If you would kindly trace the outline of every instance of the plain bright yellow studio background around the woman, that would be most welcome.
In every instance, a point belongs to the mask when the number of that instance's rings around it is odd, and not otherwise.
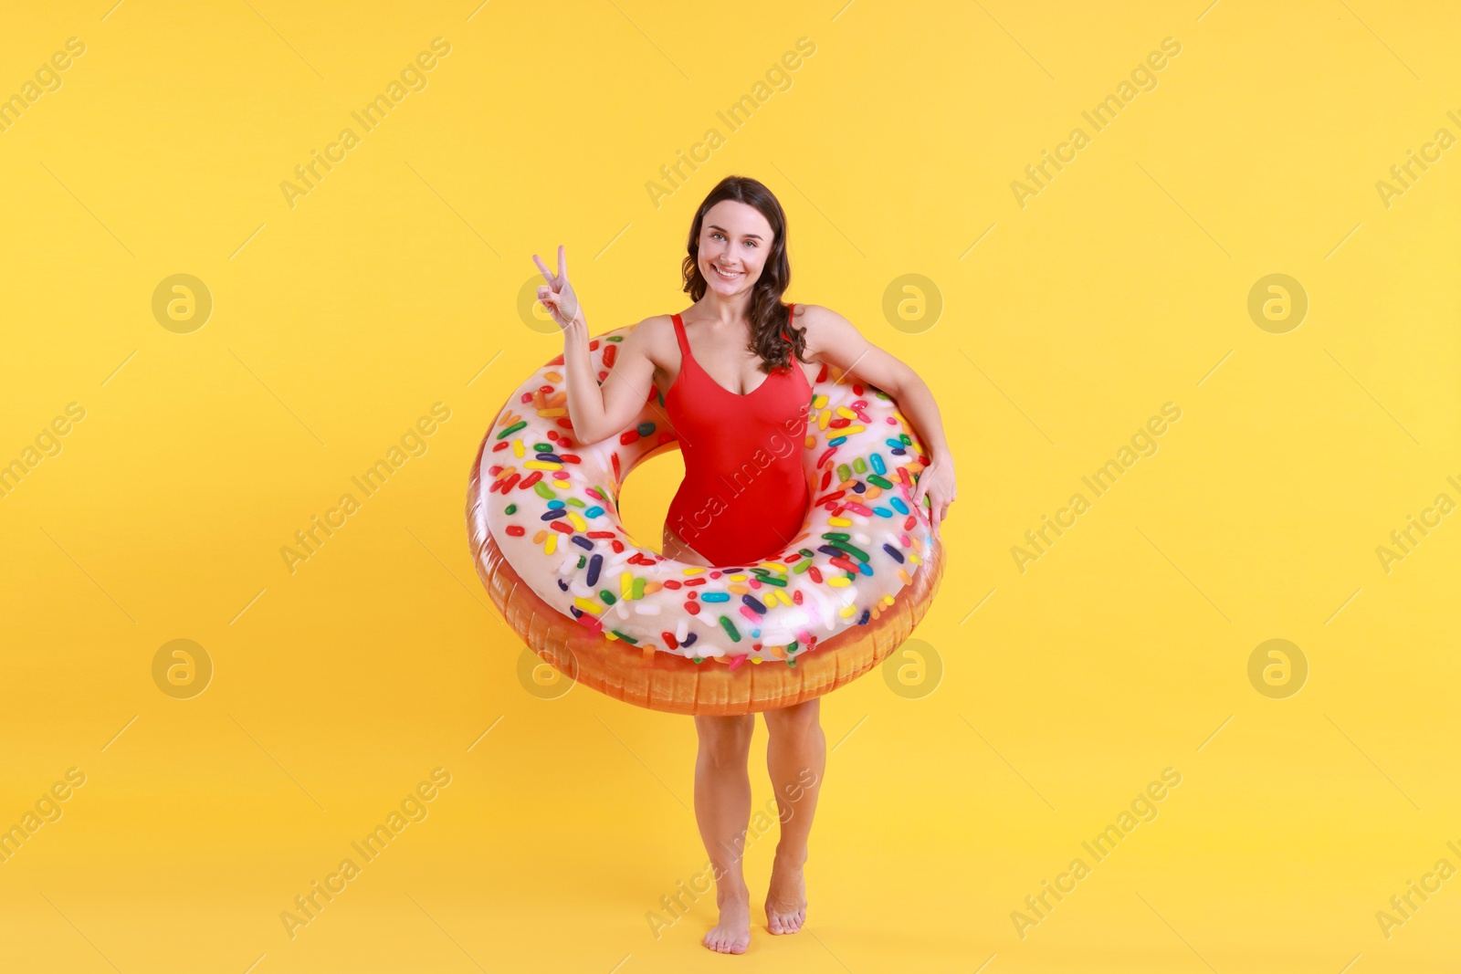
[[[1461,866],[1461,515],[1388,574],[1375,549],[1461,499],[1461,149],[1389,207],[1375,183],[1461,134],[1461,15],[1102,6],[12,10],[0,93],[86,53],[0,133],[0,461],[86,419],[0,498],[0,825],[86,784],[0,863],[0,968],[1452,970],[1461,879],[1389,939],[1375,914]],[[291,209],[281,181],[435,37],[428,86]],[[728,131],[801,37],[792,86]],[[1090,133],[1167,37],[1159,86]],[[1011,181],[1075,126],[1091,145],[1021,209]],[[646,921],[704,867],[690,720],[529,694],[463,524],[487,425],[560,350],[517,311],[530,254],[567,245],[596,331],[678,310],[729,172],[787,210],[789,299],[926,377],[960,485],[916,634],[942,680],[825,698],[808,927],[766,932],[760,840],[741,961],[700,946],[712,897]],[[150,310],[175,273],[215,302],[188,334]],[[904,273],[938,286],[932,329],[884,317]],[[1270,273],[1309,295],[1286,334],[1246,311]],[[289,574],[281,546],[437,402],[428,453]],[[1167,402],[1159,453],[1021,574],[1011,546]],[[152,679],[175,638],[215,666],[191,699]],[[1248,680],[1268,638],[1309,662],[1287,699]],[[281,911],[438,767],[430,816],[291,939]],[[1166,767],[1160,816],[1021,939],[1011,911]]]

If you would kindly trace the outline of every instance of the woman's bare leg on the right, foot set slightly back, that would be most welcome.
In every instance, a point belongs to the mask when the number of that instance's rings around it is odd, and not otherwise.
[[[806,838],[812,831],[817,794],[827,770],[821,698],[766,711],[766,767],[776,789],[782,838],[776,844],[771,883],[766,891],[766,926],[771,933],[796,933],[806,921]]]

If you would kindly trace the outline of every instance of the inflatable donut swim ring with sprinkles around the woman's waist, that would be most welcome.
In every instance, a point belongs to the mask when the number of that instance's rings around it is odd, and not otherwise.
[[[628,331],[589,343],[600,383]],[[619,523],[624,478],[678,448],[663,396],[650,390],[622,434],[581,445],[561,367],[560,355],[508,397],[466,504],[482,584],[557,670],[650,710],[757,713],[856,679],[923,618],[944,568],[910,496],[928,459],[882,391],[824,365],[805,422],[802,530],[754,565],[704,568],[637,545]]]

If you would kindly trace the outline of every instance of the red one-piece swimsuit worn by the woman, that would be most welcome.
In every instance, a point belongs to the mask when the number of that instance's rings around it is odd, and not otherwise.
[[[684,323],[678,314],[674,320],[681,365],[665,409],[679,435],[685,479],[665,520],[710,564],[751,565],[780,553],[806,518],[802,438],[811,384],[792,359],[749,393],[732,393],[700,367]]]

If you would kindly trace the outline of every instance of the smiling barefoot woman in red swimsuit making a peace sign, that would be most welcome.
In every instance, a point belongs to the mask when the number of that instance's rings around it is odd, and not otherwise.
[[[557,275],[533,254],[548,280],[538,288],[538,299],[564,331],[576,438],[596,442],[618,434],[652,387],[665,393],[685,479],[671,502],[663,553],[726,567],[754,564],[790,543],[811,498],[802,473],[804,434],[787,437],[786,431],[805,423],[811,383],[824,364],[896,399],[920,434],[929,464],[913,499],[928,498],[937,534],[957,491],[934,396],[913,369],[871,345],[836,311],[782,304],[790,264],[786,216],[771,191],[745,177],[722,180],[695,212],[688,251],[681,270],[693,304],[679,314],[640,321],[603,383],[589,361],[589,327],[568,283],[564,248],[558,248]],[[814,698],[764,711],[766,761],[782,822],[766,895],[771,933],[796,933],[806,917],[802,866],[827,759],[820,704]],[[695,819],[720,908],[720,921],[704,943],[722,954],[744,954],[751,940],[751,894],[739,850],[751,816],[747,756],[754,727],[755,714],[695,717]]]

